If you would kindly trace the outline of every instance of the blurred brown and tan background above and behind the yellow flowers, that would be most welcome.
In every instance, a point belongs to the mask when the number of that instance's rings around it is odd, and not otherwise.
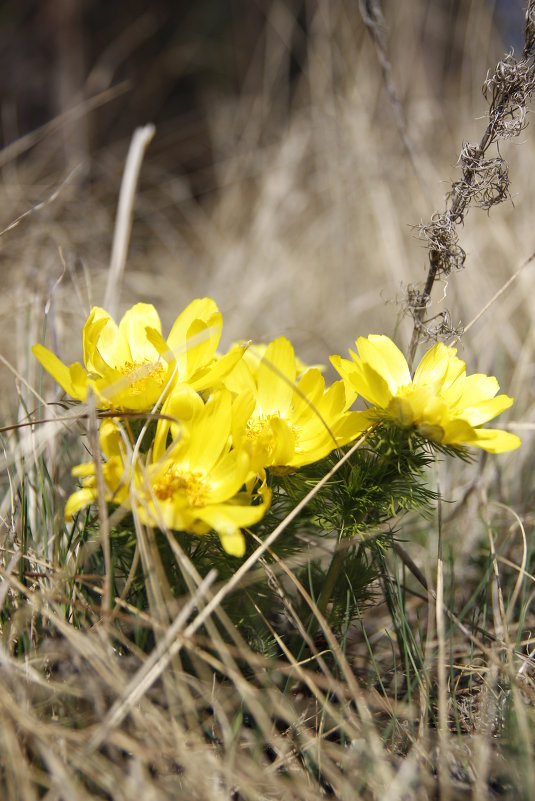
[[[156,133],[120,311],[152,302],[166,333],[211,295],[223,347],[285,334],[313,362],[371,332],[407,346],[407,288],[427,272],[415,226],[444,209],[461,146],[481,138],[481,85],[522,49],[524,4],[381,7],[374,39],[365,0],[0,5],[0,337],[21,375],[36,381],[28,353],[42,338],[81,357],[129,144],[146,123]],[[435,289],[433,310],[454,327],[535,250],[532,127],[501,155],[511,198],[469,212],[466,269]],[[534,283],[528,267],[460,346],[471,370],[512,381],[524,409]],[[2,397],[17,386],[4,366]]]

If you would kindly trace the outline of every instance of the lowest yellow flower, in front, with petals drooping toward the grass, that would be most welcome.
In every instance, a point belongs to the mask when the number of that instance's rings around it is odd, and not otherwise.
[[[248,453],[231,449],[230,393],[221,390],[204,404],[184,388],[172,396],[166,410],[184,419],[158,422],[154,447],[145,461],[141,456],[133,460],[131,444],[125,444],[117,422],[102,422],[107,500],[128,509],[135,504],[141,521],[151,526],[198,535],[214,530],[227,553],[243,556],[241,529],[264,516],[270,492],[265,486],[257,497],[243,491],[253,475]],[[171,444],[166,447],[169,434]],[[67,501],[68,519],[97,500],[94,465],[80,465],[73,472],[84,481]],[[253,500],[258,503],[253,505]]]

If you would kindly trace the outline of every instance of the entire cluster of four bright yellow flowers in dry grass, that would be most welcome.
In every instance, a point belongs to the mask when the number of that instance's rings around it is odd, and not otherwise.
[[[167,339],[149,304],[133,306],[119,325],[95,307],[83,330],[84,366],[33,348],[68,395],[85,402],[92,393],[107,411],[100,426],[106,499],[147,525],[215,531],[227,553],[242,556],[242,530],[269,506],[270,473],[317,462],[384,420],[431,443],[493,453],[520,444],[513,434],[481,428],[512,399],[496,396],[495,378],[467,376],[454,348],[435,345],[411,378],[388,337],[360,338],[352,361],[331,357],[341,378],[327,386],[321,369],[300,362],[285,337],[220,355],[221,330],[211,298],[190,303]],[[358,396],[370,408],[352,410]],[[147,415],[141,432],[131,413]],[[98,497],[95,463],[73,473],[81,487],[67,501],[67,518]]]

